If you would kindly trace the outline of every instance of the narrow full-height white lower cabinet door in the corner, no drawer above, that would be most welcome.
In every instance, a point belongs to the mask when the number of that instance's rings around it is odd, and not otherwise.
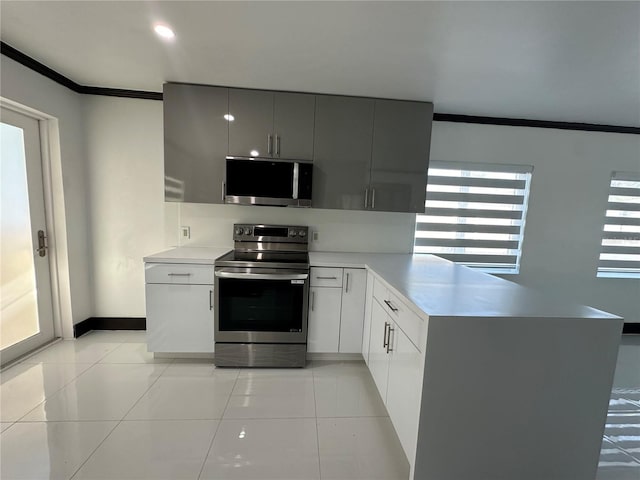
[[[367,272],[363,268],[345,268],[342,280],[342,310],[340,314],[340,353],[362,351],[364,299]]]

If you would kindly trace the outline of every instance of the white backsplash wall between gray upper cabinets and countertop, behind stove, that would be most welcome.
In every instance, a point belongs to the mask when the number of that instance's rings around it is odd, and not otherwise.
[[[415,214],[170,202],[164,211],[169,246],[233,248],[234,223],[265,223],[308,226],[313,251],[410,253],[413,249]],[[190,228],[191,238],[180,237],[181,226]]]

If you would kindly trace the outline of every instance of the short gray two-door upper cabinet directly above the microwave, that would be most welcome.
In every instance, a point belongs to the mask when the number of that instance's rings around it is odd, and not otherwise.
[[[229,154],[296,160],[313,158],[315,95],[229,90]]]

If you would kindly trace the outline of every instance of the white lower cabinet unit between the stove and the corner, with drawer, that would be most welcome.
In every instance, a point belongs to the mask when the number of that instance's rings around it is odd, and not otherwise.
[[[361,353],[366,270],[312,267],[310,284],[307,351]]]

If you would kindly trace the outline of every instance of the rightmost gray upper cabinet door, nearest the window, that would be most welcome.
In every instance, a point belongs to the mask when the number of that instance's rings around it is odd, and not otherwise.
[[[376,100],[370,205],[424,212],[433,104]]]

